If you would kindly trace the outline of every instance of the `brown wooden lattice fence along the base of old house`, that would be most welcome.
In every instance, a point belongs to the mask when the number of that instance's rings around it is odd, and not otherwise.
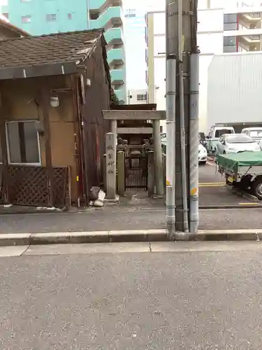
[[[64,207],[68,192],[68,167],[53,167],[53,176],[54,205]],[[47,207],[49,203],[47,168],[34,165],[9,165],[8,200],[14,205]],[[0,202],[3,202],[1,190]]]

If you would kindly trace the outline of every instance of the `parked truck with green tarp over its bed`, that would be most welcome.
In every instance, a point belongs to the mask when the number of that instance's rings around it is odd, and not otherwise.
[[[252,194],[262,200],[262,152],[217,155],[215,162],[228,185],[251,189]]]

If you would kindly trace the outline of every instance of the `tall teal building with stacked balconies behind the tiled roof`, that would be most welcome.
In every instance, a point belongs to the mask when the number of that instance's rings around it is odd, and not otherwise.
[[[122,0],[8,0],[1,13],[32,35],[105,29],[112,86],[119,103],[126,102]]]

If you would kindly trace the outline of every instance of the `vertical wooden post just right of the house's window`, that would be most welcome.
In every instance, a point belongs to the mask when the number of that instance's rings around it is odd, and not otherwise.
[[[52,168],[52,149],[50,140],[50,90],[45,86],[41,90],[41,107],[43,111],[43,125],[45,131],[45,165],[48,171],[49,185],[49,203],[50,207],[54,207],[54,174]]]

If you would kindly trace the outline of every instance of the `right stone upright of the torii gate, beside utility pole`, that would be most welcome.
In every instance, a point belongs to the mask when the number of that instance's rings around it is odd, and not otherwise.
[[[154,120],[154,172],[156,178],[156,195],[163,195],[163,167],[160,137],[160,120]]]

